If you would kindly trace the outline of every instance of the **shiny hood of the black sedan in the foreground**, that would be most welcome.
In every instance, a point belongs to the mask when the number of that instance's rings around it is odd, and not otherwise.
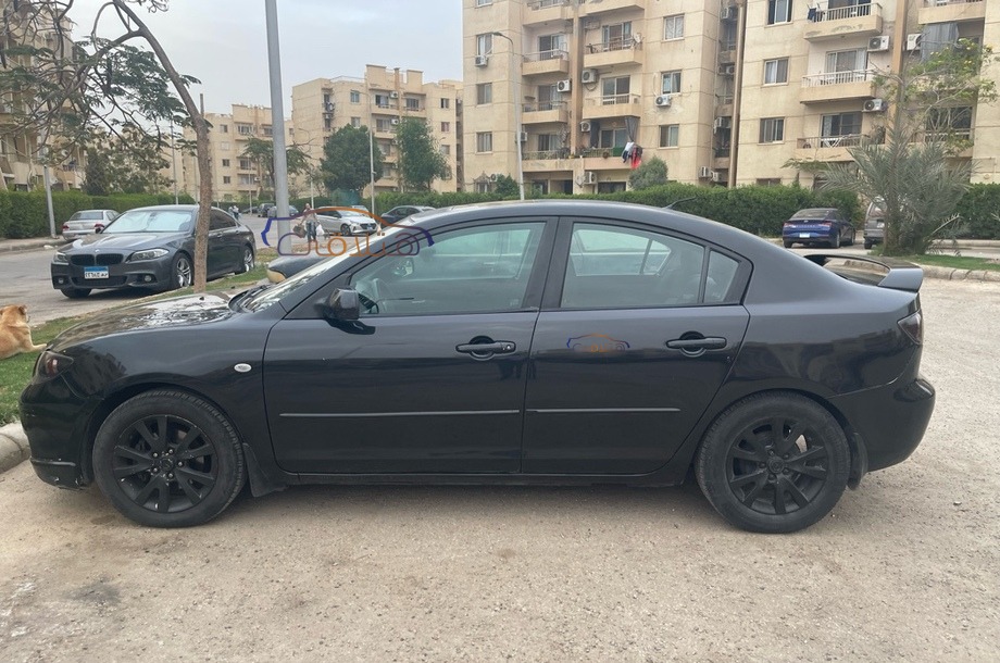
[[[107,311],[57,336],[51,349],[60,351],[98,337],[123,333],[217,323],[236,315],[228,301],[226,296],[190,295]]]

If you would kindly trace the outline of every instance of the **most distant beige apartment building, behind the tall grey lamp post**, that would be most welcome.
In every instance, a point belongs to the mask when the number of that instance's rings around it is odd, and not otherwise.
[[[261,105],[234,103],[228,113],[205,113],[209,129],[209,154],[212,163],[212,200],[216,203],[257,201],[264,190],[273,190],[265,168],[243,153],[251,137],[271,140],[271,109]],[[291,145],[295,132],[286,122],[287,143]],[[195,141],[195,129],[184,129],[185,141]],[[166,148],[167,161],[178,160],[178,189],[190,193],[196,199],[199,193],[198,161],[190,152],[182,152],[179,143],[176,154]],[[173,164],[163,171],[163,175],[173,179]],[[289,185],[291,187],[291,185]],[[299,192],[299,191],[297,191]]]

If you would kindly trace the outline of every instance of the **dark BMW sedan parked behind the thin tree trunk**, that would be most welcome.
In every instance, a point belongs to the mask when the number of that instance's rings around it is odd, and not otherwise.
[[[125,212],[100,234],[77,239],[57,251],[51,265],[52,287],[76,299],[98,288],[174,290],[190,286],[197,215],[198,205]],[[213,208],[208,278],[252,270],[255,246],[250,228]]]

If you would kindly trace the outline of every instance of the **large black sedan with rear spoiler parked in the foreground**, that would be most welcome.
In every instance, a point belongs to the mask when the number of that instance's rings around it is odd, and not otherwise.
[[[727,521],[780,533],[903,461],[934,409],[908,263],[852,271],[582,201],[368,240],[61,334],[21,397],[38,475],[186,526],[245,481],[670,486],[693,467]]]

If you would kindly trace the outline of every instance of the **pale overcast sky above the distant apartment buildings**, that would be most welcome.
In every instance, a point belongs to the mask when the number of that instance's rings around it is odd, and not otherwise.
[[[90,32],[102,0],[76,0],[77,38]],[[365,64],[462,77],[459,0],[277,0],[285,115],[291,87],[313,78],[364,75]],[[171,0],[165,13],[139,14],[183,74],[201,80],[205,110],[271,105],[264,0]],[[105,12],[103,36],[120,35]]]

